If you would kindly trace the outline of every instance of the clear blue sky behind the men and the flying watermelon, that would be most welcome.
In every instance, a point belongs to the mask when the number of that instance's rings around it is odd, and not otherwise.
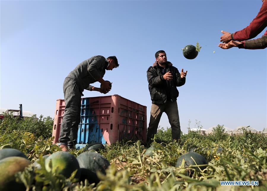
[[[22,103],[25,111],[54,117],[69,72],[91,56],[115,55],[120,67],[104,76],[112,82],[107,95],[147,106],[148,123],[146,71],[155,52],[165,50],[168,61],[188,71],[177,100],[183,132],[189,120],[191,128],[195,120],[206,129],[217,124],[266,128],[266,49],[217,46],[221,30],[233,33],[249,25],[260,0],[0,3],[1,108],[18,109]],[[202,46],[197,58],[185,59],[181,48],[197,42]],[[159,125],[170,127],[166,114]]]

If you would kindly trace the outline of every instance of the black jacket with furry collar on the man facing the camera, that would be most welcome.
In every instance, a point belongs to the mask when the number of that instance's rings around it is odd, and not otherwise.
[[[178,69],[172,66],[171,62],[167,63],[166,72],[171,71],[173,79],[168,81],[169,88],[171,88],[171,101],[176,101],[179,96],[179,91],[177,90],[177,86],[182,86],[185,84],[185,78],[181,79],[181,75]],[[155,61],[153,66],[147,69],[147,81],[148,81],[148,89],[150,92],[152,103],[154,104],[163,104],[167,101],[167,93],[166,93],[166,80],[163,79],[163,75],[160,73],[160,69],[158,68],[158,63]]]

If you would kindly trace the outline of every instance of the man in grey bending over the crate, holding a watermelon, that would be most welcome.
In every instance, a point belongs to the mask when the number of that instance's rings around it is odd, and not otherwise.
[[[84,90],[99,91],[106,94],[110,89],[110,83],[103,80],[106,70],[112,70],[119,66],[116,56],[93,56],[79,64],[65,78],[63,93],[65,99],[65,111],[61,122],[60,147],[62,151],[74,148],[77,140],[78,126],[81,120],[81,97]],[[91,83],[100,82],[102,88],[91,86]]]

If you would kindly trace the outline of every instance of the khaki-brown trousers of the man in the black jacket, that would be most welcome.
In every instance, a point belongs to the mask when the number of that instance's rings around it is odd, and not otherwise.
[[[173,140],[180,140],[181,128],[179,121],[179,113],[177,101],[166,101],[163,104],[153,104],[151,106],[150,121],[147,128],[147,145],[150,145],[151,138],[157,133],[158,124],[162,113],[165,112],[171,124],[171,136]]]

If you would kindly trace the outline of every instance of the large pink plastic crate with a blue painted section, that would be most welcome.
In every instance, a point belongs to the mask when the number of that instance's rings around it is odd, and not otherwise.
[[[82,98],[77,144],[140,139],[147,136],[147,107],[120,95]],[[57,100],[53,143],[58,142],[65,102]]]

